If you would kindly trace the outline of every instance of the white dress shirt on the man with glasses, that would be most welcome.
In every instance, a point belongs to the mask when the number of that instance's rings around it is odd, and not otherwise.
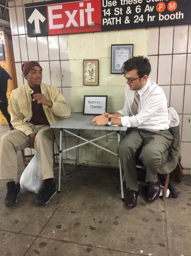
[[[121,123],[127,127],[138,127],[149,130],[167,130],[170,120],[168,119],[167,99],[165,94],[154,82],[147,79],[146,85],[138,90],[139,103],[138,114],[129,117],[129,112],[134,99],[134,91],[125,87],[125,104],[118,112],[123,115]]]

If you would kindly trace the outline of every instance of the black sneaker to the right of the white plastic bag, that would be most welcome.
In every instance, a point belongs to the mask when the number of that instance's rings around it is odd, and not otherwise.
[[[44,187],[40,191],[38,197],[36,198],[36,205],[42,206],[50,202],[50,200],[56,195],[57,189],[55,182],[47,183],[44,182]]]

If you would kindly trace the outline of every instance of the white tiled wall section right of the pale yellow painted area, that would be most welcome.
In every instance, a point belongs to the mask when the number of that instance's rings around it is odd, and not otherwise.
[[[152,78],[156,77],[168,105],[179,114],[181,162],[183,167],[191,168],[191,26],[149,28],[149,32],[148,56],[152,69],[154,58],[159,60],[152,71]]]

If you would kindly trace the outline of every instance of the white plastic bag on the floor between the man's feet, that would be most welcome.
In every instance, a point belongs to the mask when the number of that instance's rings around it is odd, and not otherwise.
[[[39,162],[38,154],[35,153],[31,161],[24,169],[20,185],[26,191],[38,194],[43,186],[42,170]]]

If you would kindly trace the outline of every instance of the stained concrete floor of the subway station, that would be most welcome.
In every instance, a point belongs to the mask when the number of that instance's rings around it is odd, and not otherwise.
[[[0,125],[0,136],[7,130]],[[1,256],[191,256],[190,175],[173,183],[178,198],[148,203],[140,187],[138,205],[128,209],[118,169],[65,165],[65,171],[60,194],[42,207],[22,189],[6,207],[0,181]],[[18,154],[18,180],[22,172]]]

